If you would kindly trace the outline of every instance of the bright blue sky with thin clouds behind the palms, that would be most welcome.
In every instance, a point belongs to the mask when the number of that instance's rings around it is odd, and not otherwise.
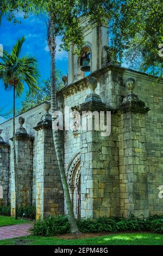
[[[23,44],[21,55],[35,56],[39,65],[41,83],[42,80],[46,80],[50,76],[50,57],[46,42],[46,17],[31,15],[27,20],[24,20],[21,14],[17,17],[21,20],[21,25],[14,25],[14,23],[7,21],[5,17],[3,18],[0,26],[0,44],[3,45],[5,50],[10,52],[16,40],[25,35],[26,41]],[[58,37],[57,42],[57,45],[59,45],[61,38]],[[63,74],[67,74],[68,54],[65,51],[59,52],[58,48],[57,46],[57,68],[62,70]],[[27,89],[28,88],[25,86],[21,99],[16,99],[17,108],[20,108],[21,100],[24,99]],[[4,112],[8,112],[12,108],[12,92],[4,91],[2,81],[0,81],[0,95],[0,109],[5,106]],[[2,123],[2,121],[4,121],[4,118],[0,117],[0,123]]]

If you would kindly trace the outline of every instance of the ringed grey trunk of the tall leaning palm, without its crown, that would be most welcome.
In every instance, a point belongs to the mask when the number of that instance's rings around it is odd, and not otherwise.
[[[53,40],[54,40],[53,44],[55,45],[55,35],[53,35]],[[68,219],[69,219],[69,223],[70,223],[70,230],[72,233],[79,234],[80,232],[77,227],[76,218],[74,217],[72,202],[71,202],[70,193],[69,193],[68,185],[67,185],[67,179],[66,179],[65,168],[64,168],[64,160],[63,160],[61,148],[60,148],[59,132],[58,132],[58,130],[56,130],[55,117],[53,117],[53,113],[55,111],[57,111],[55,51],[56,50],[55,50],[55,46],[54,46],[54,50],[51,51],[51,84],[52,84],[52,86],[51,86],[51,106],[52,106],[53,140],[54,140],[55,153],[57,155],[57,161],[58,161],[58,166],[59,166],[59,170],[60,170],[60,175],[61,175],[62,186],[64,189],[64,196],[65,196],[66,206],[67,206],[67,211],[68,211]]]

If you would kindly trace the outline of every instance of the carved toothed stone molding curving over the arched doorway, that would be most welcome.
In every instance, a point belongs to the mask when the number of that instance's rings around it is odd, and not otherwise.
[[[73,155],[72,159],[68,163],[67,166],[67,184],[68,186],[72,186],[72,177],[73,177],[73,172],[76,167],[78,167],[80,164],[80,151],[78,151],[76,154]]]

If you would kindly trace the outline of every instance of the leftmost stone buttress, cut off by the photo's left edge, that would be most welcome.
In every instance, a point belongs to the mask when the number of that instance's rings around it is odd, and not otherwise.
[[[9,153],[10,147],[3,141],[0,129],[0,205],[9,204]]]

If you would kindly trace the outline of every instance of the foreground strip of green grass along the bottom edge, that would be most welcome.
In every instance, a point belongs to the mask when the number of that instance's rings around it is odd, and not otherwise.
[[[163,235],[121,233],[76,240],[60,239],[56,236],[26,236],[1,240],[0,245],[163,245]]]

